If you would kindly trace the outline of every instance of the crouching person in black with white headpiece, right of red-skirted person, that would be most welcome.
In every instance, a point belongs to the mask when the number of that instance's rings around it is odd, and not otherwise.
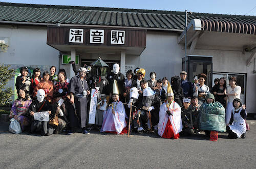
[[[192,111],[189,109],[190,99],[183,99],[183,106],[181,107],[181,119],[182,119],[182,132],[184,135],[192,135],[194,133]]]

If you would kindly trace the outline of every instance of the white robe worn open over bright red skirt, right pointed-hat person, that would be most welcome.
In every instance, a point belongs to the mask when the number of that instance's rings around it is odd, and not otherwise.
[[[166,114],[167,110],[170,110],[170,112],[173,114],[168,116]],[[181,132],[182,130],[182,120],[181,120],[181,107],[178,103],[176,103],[175,101],[173,101],[169,107],[167,108],[166,106],[166,102],[164,102],[161,106],[160,106],[160,110],[159,110],[159,123],[158,123],[158,134],[160,136],[163,135],[166,124],[168,122],[168,118],[170,120],[170,123],[173,126],[173,130],[174,130],[174,134],[178,134],[179,132]]]

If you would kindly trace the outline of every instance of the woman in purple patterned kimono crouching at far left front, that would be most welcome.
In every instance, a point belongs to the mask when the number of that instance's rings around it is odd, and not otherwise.
[[[22,131],[24,131],[30,123],[30,119],[27,118],[26,115],[28,114],[29,106],[31,103],[32,100],[30,99],[26,88],[20,88],[18,91],[18,98],[12,104],[9,117],[18,120]]]

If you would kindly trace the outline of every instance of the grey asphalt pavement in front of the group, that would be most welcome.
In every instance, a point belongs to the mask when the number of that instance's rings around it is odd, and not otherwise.
[[[247,120],[245,139],[218,142],[202,134],[180,139],[157,133],[124,135],[12,134],[0,123],[0,168],[255,168],[256,121]]]

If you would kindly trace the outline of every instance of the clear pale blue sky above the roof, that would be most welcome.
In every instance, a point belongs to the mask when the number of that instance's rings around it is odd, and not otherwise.
[[[167,11],[185,11],[231,14],[231,15],[252,15],[256,16],[255,0],[215,0],[215,1],[173,1],[173,0],[0,0],[0,2],[24,3],[24,4],[47,4],[47,5],[71,5],[88,7],[110,7],[110,8],[130,8],[130,9],[148,9],[148,10],[167,10]]]

